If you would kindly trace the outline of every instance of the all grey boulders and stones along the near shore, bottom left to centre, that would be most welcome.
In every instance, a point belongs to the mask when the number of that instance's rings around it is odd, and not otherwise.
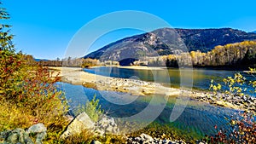
[[[89,131],[95,137],[104,137],[106,134],[110,135],[122,135],[119,133],[118,125],[114,122],[113,118],[103,116],[96,123],[91,121],[89,116],[82,112],[76,118],[70,121],[67,125],[67,129],[61,134],[60,140],[65,141],[73,135],[80,135],[85,131]],[[32,137],[31,134],[34,136]],[[47,135],[47,128],[44,124],[34,124],[29,129],[24,130],[17,128],[15,130],[7,130],[0,132],[0,143],[20,143],[20,144],[43,144],[43,141]],[[137,137],[128,137],[122,135],[127,144],[185,144],[184,141],[160,138],[152,138],[150,135],[141,134]],[[34,140],[34,141],[33,141]],[[101,141],[91,141],[91,144],[101,144]]]

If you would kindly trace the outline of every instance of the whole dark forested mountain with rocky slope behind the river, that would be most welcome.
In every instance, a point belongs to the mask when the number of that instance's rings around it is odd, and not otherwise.
[[[125,37],[104,46],[84,58],[99,60],[142,60],[145,56],[170,55],[184,51],[207,52],[217,45],[255,40],[256,33],[231,28],[172,29],[161,28],[153,32]]]

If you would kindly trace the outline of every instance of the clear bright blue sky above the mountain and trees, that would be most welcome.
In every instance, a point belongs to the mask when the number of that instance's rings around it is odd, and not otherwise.
[[[121,10],[154,14],[177,28],[256,30],[254,0],[3,0],[3,6],[11,14],[16,49],[51,60],[63,58],[72,37],[90,20]],[[97,40],[91,50],[138,33],[141,32],[110,32]]]

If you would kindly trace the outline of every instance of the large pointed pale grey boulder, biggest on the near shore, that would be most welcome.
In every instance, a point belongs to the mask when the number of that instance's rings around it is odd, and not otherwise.
[[[61,139],[64,140],[68,136],[79,135],[83,130],[93,130],[94,128],[95,123],[85,112],[82,112],[67,126],[67,130],[61,135]]]

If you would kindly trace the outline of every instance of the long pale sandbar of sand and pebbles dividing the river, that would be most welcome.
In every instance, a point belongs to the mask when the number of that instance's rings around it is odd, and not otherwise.
[[[124,68],[135,68],[136,66],[125,66]],[[60,73],[61,81],[64,83],[84,85],[84,87],[97,90],[110,90],[130,93],[131,95],[164,95],[164,96],[186,96],[197,101],[204,101],[215,106],[230,107],[240,110],[249,110],[255,112],[255,99],[251,102],[240,101],[232,103],[227,101],[216,101],[211,93],[201,92],[192,89],[167,88],[161,84],[144,82],[129,78],[109,78],[96,74],[84,72],[82,68],[73,67],[49,67],[54,70],[53,77]],[[142,67],[141,67],[142,68]],[[144,67],[146,68],[146,66]],[[253,108],[254,107],[254,108]]]

